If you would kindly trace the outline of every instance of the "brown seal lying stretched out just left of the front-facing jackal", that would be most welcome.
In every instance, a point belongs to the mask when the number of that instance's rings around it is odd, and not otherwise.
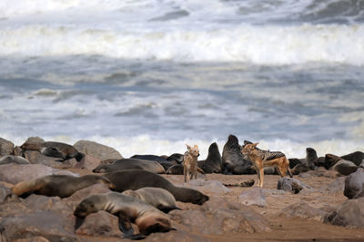
[[[125,169],[144,169],[158,174],[166,173],[166,169],[164,169],[157,161],[139,159],[116,160],[112,164],[99,165],[92,171],[95,173],[106,173]]]

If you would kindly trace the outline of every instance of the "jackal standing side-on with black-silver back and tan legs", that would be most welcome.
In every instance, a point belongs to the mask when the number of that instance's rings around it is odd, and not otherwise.
[[[292,178],[292,172],[289,169],[289,160],[286,155],[280,151],[271,152],[267,150],[258,150],[258,143],[247,144],[241,152],[248,155],[249,160],[252,160],[258,174],[258,186],[263,187],[264,167],[276,167],[281,178],[284,178],[288,171],[289,177]]]

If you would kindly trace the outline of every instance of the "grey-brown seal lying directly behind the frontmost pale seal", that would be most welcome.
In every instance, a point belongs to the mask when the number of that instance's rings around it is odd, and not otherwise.
[[[159,210],[168,213],[170,210],[179,209],[176,198],[167,191],[160,188],[142,188],[137,190],[125,190],[123,194],[141,199]]]

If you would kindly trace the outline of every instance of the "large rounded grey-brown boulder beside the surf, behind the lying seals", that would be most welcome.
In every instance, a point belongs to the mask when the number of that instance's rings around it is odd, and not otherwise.
[[[79,140],[75,143],[74,147],[79,152],[82,152],[86,155],[90,155],[99,160],[123,159],[121,154],[114,148],[108,147],[103,144],[96,143],[94,141]]]

